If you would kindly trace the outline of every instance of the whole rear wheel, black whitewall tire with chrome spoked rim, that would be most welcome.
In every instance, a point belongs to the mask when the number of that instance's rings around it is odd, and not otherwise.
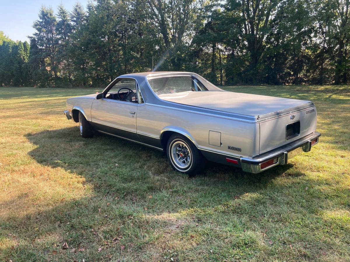
[[[174,170],[194,176],[205,165],[201,152],[186,137],[173,134],[167,144],[167,156]]]

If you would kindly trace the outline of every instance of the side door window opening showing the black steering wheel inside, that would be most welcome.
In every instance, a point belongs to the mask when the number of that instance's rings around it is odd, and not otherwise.
[[[134,79],[121,79],[104,95],[106,99],[138,103],[136,81]]]

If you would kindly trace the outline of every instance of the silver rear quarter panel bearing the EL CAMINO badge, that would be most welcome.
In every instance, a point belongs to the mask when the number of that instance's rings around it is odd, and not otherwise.
[[[197,114],[144,104],[137,110],[137,130],[159,137],[162,130],[177,127],[185,130],[195,140],[198,148],[229,155],[249,157],[259,152],[259,124]],[[220,147],[209,145],[209,131],[221,132]],[[228,146],[239,147],[241,152]]]

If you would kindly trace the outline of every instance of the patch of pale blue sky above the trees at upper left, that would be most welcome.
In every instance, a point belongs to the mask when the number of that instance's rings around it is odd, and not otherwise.
[[[29,42],[27,36],[34,32],[31,26],[38,19],[40,7],[51,6],[57,14],[57,6],[61,2],[68,11],[71,11],[77,0],[0,0],[0,31],[14,41]],[[87,0],[78,2],[86,7]]]

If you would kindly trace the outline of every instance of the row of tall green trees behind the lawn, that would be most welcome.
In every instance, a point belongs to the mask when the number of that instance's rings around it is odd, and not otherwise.
[[[35,33],[0,31],[0,85],[105,86],[118,75],[191,71],[219,84],[348,83],[350,0],[96,0]]]

